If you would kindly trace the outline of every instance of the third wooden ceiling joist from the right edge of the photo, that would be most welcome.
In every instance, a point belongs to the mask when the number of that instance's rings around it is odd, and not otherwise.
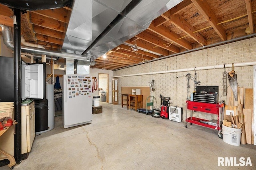
[[[207,45],[206,39],[204,39],[204,37],[200,33],[195,32],[196,29],[194,29],[194,27],[192,27],[180,15],[178,14],[170,15],[170,11],[167,11],[161,16],[164,17],[166,20],[168,20],[170,23],[174,24],[179,29],[181,29],[183,32],[185,32],[187,35],[189,35],[192,39],[194,39],[196,42],[198,42],[202,46]]]

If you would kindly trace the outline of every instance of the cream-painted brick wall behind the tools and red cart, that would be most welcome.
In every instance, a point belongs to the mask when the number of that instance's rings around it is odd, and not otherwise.
[[[212,66],[224,63],[232,64],[255,61],[256,38],[251,38],[234,43],[220,45],[218,47],[212,47],[209,49],[203,49],[184,55],[162,59],[151,63],[145,63],[138,66],[116,70],[114,71],[114,76]],[[230,72],[231,70],[232,68],[226,68],[226,72]],[[253,66],[235,67],[234,70],[236,71],[238,77],[238,84],[240,87],[253,88]],[[222,75],[224,72],[224,68],[211,70],[196,70],[196,72],[198,74],[197,80],[201,82],[200,86],[219,86],[219,100],[226,101],[226,96],[222,95]],[[160,107],[160,94],[165,97],[170,97],[172,106],[183,107],[183,121],[185,121],[186,98],[190,97],[190,93],[194,91],[194,82],[193,80],[190,80],[190,92],[187,93],[186,76],[180,78],[176,77],[182,76],[187,73],[188,72],[175,72],[168,74],[152,74],[151,76],[144,75],[122,77],[118,78],[119,89],[121,90],[121,86],[148,86],[148,82],[151,82],[151,80],[154,78],[154,80],[156,81],[156,90],[155,92],[152,92],[152,95],[156,97],[158,107]],[[190,71],[189,73],[194,78],[194,71]],[[119,103],[121,103],[120,96]],[[188,115],[190,115],[190,111],[188,112]],[[217,119],[217,116],[214,114],[202,112],[193,112],[193,116],[208,120]]]

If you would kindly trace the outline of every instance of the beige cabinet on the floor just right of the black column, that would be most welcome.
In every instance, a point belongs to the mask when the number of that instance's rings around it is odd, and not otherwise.
[[[21,106],[21,153],[29,153],[36,135],[35,102],[25,100]]]

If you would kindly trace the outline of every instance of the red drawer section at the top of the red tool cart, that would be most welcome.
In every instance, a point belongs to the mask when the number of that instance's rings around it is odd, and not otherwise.
[[[194,111],[202,111],[206,113],[219,114],[219,104],[210,104],[202,102],[187,101],[188,109]]]

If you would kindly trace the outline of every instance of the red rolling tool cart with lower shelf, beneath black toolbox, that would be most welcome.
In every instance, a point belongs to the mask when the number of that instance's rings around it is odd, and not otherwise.
[[[223,112],[224,112],[224,104],[220,104],[220,103],[213,104],[213,103],[192,102],[192,101],[186,101],[186,104],[187,104],[186,125],[185,125],[186,128],[188,127],[188,125],[187,125],[188,122],[190,123],[190,125],[192,125],[194,123],[196,125],[209,127],[209,128],[218,130],[218,136],[220,138],[222,138],[220,130],[221,130],[221,121],[223,119],[222,117],[223,117]],[[191,111],[190,117],[187,117],[188,110]],[[218,121],[217,121],[216,125],[210,125],[210,124],[208,124],[209,120],[201,119],[198,117],[193,117],[192,116],[193,111],[201,111],[201,112],[205,112],[205,113],[216,114],[216,115],[218,115]]]

